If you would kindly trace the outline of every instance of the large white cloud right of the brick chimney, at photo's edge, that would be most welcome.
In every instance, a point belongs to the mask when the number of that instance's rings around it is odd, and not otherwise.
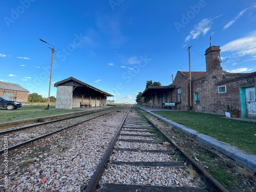
[[[256,30],[245,37],[228,42],[221,47],[221,51],[235,52],[238,56],[256,54]]]

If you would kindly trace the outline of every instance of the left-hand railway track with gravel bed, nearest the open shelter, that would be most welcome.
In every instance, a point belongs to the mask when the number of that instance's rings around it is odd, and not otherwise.
[[[38,139],[47,137],[54,133],[66,130],[72,126],[78,125],[82,122],[92,120],[94,118],[100,117],[105,114],[109,114],[113,111],[116,111],[118,108],[105,109],[101,111],[91,112],[87,114],[57,119],[53,121],[48,121],[44,123],[33,124],[25,127],[18,127],[16,129],[9,129],[6,131],[0,132],[0,142],[2,150],[0,150],[0,155],[4,153],[4,140],[8,138],[9,146],[8,150],[13,150],[19,146],[23,146],[27,143],[31,143]],[[108,111],[108,112],[106,112]]]

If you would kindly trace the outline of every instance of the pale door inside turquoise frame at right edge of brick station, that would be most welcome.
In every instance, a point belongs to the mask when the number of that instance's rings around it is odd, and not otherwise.
[[[247,117],[255,118],[256,117],[255,88],[245,89],[245,94],[246,94]]]

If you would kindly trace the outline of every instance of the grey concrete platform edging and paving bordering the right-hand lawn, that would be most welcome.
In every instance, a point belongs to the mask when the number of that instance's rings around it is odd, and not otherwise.
[[[148,113],[154,115],[155,117],[159,118],[160,120],[174,126],[176,129],[186,133],[187,135],[190,135],[191,137],[196,138],[197,140],[207,144],[208,146],[215,148],[215,150],[225,154],[226,156],[242,163],[243,165],[249,167],[250,169],[254,170],[256,172],[256,155],[248,155],[245,154],[242,150],[239,150],[238,148],[232,147],[224,142],[221,142],[215,138],[212,138],[210,136],[198,133],[195,130],[188,129],[184,125],[181,125],[179,123],[176,123],[172,120],[168,120],[165,117],[162,117],[160,115],[152,113],[152,111],[176,111],[176,110],[166,110],[161,108],[152,108],[152,107],[139,107]],[[242,119],[242,118],[236,118],[236,119]],[[243,119],[244,120],[244,119]],[[249,119],[251,120],[251,119]]]

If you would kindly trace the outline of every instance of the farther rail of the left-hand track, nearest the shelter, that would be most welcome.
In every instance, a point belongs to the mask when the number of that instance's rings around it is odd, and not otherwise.
[[[115,109],[120,109],[120,108],[117,107]],[[29,129],[29,128],[34,127],[34,126],[44,125],[44,124],[48,124],[48,123],[54,123],[54,122],[58,122],[58,121],[66,120],[66,119],[81,117],[81,116],[84,116],[84,115],[90,115],[90,114],[93,114],[93,113],[98,113],[98,112],[102,112],[102,111],[106,111],[106,110],[111,110],[111,109],[104,109],[104,110],[101,110],[101,111],[94,111],[94,112],[87,113],[87,114],[76,115],[76,116],[66,117],[66,118],[62,118],[62,119],[56,119],[56,120],[53,120],[53,121],[47,121],[47,122],[33,124],[33,125],[29,125],[29,126],[23,126],[23,127],[17,128],[17,129],[11,129],[11,130],[6,130],[6,131],[3,131],[3,132],[0,132],[0,135],[5,135],[5,134],[11,133],[11,132],[16,132],[16,131],[20,131],[20,130]]]

